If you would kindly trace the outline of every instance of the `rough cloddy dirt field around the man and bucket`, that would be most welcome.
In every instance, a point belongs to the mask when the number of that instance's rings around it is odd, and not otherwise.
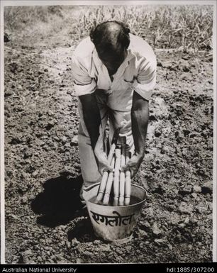
[[[70,66],[78,38],[65,28],[43,39],[23,33],[10,33],[4,44],[6,262],[211,262],[210,51],[155,48],[157,87],[134,179],[150,196],[133,239],[117,245],[96,238],[87,211],[79,211]]]

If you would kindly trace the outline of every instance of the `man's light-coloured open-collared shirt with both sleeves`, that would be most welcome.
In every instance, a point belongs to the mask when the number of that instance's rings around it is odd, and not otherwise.
[[[113,81],[89,37],[77,45],[72,56],[72,77],[77,96],[91,94],[95,89],[103,89],[109,94],[117,89],[124,92],[130,88],[149,100],[156,83],[156,69],[157,61],[150,45],[132,34],[126,59],[113,74]]]

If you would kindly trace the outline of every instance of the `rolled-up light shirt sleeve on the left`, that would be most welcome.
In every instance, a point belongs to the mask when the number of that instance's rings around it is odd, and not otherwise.
[[[94,93],[96,82],[89,77],[87,69],[82,65],[82,61],[76,55],[72,56],[72,77],[74,91],[77,96]]]

